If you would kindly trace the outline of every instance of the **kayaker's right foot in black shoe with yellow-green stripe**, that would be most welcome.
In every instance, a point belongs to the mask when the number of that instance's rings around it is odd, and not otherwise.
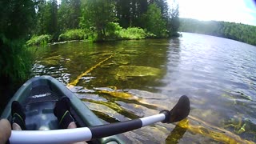
[[[58,126],[61,129],[66,129],[71,122],[74,122],[74,118],[70,114],[70,99],[61,98],[56,102],[54,107],[54,115],[58,118]]]

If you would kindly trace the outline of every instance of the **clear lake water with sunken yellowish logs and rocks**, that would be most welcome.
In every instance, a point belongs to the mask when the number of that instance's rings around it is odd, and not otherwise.
[[[158,114],[190,98],[188,119],[122,134],[128,143],[256,142],[256,47],[182,35],[38,48],[33,76],[57,78],[104,122]]]

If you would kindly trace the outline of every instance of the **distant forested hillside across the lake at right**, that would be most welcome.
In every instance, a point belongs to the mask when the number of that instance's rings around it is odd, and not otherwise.
[[[256,26],[234,22],[198,21],[190,18],[180,18],[179,30],[230,38],[256,46]]]

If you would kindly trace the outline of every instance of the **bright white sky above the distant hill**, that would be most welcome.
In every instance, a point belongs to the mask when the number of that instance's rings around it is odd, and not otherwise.
[[[169,3],[174,0],[167,0]],[[256,26],[256,0],[175,0],[180,18],[237,22]]]

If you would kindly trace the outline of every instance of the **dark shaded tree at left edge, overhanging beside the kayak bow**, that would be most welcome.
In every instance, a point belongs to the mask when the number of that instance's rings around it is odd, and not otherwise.
[[[34,2],[0,1],[0,110],[29,76],[30,57],[23,47],[34,23]]]

